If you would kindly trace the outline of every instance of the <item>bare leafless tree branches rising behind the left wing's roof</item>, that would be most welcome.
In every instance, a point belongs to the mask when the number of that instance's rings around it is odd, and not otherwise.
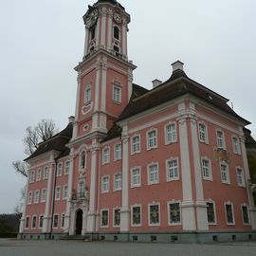
[[[53,137],[58,130],[52,119],[42,119],[33,128],[28,126],[26,129],[26,137],[23,139],[25,146],[24,153],[26,155],[32,155],[38,148],[40,142],[46,141],[50,137]],[[18,174],[22,174],[27,177],[27,163],[21,160],[12,162],[12,166]]]

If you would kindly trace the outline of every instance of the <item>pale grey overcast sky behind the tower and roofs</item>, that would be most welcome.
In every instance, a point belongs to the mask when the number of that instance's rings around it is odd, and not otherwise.
[[[11,162],[24,159],[28,125],[74,115],[86,0],[8,0],[0,8],[0,213],[12,212],[26,179]],[[187,75],[227,97],[256,135],[255,0],[120,0],[131,14],[129,59],[134,82],[151,88],[185,63]]]

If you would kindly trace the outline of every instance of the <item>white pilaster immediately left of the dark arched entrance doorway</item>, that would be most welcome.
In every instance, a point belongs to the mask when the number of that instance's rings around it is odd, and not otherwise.
[[[64,233],[69,233],[69,229],[70,229],[70,214],[71,214],[70,198],[72,195],[73,169],[74,169],[73,157],[69,161],[70,161],[70,169],[68,174],[68,183],[67,183],[68,190],[67,190],[66,208],[65,208],[65,214],[64,214]]]

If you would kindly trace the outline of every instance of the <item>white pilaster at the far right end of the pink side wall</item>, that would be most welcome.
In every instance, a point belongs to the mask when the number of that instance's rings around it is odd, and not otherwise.
[[[251,191],[251,187],[249,185],[250,174],[248,169],[248,160],[247,160],[247,150],[245,145],[245,138],[240,137],[242,156],[244,162],[244,171],[246,176],[246,186],[247,186],[247,196],[248,196],[248,207],[249,207],[249,215],[250,215],[250,224],[252,229],[256,229],[256,208],[254,206],[253,195]]]

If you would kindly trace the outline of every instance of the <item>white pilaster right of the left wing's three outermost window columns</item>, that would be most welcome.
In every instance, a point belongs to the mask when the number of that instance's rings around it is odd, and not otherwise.
[[[49,210],[50,210],[51,200],[54,200],[54,198],[52,198],[53,192],[51,191],[53,172],[54,172],[54,170],[52,168],[52,164],[50,164],[48,180],[47,180],[47,191],[46,191],[46,209],[45,209],[44,220],[43,220],[43,229],[42,229],[43,233],[49,232],[49,222],[51,220]]]

